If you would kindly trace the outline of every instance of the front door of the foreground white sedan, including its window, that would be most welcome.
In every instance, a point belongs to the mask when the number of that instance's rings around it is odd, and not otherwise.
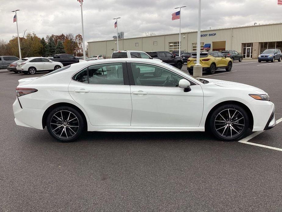
[[[131,126],[199,126],[203,112],[200,85],[192,82],[191,91],[184,92],[178,87],[184,77],[168,69],[144,63],[128,67],[135,84],[130,86]]]

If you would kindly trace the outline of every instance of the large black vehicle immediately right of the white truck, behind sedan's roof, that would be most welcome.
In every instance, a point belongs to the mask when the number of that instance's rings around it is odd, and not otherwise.
[[[156,51],[156,52],[146,52],[146,53],[150,55],[152,58],[160,59],[163,62],[170,64],[178,69],[182,68],[183,65],[182,57],[175,56],[172,53],[166,51]]]

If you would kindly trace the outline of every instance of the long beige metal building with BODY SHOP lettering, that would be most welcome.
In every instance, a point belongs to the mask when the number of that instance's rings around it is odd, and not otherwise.
[[[88,42],[88,56],[102,54],[110,58],[116,47],[116,40]],[[203,51],[235,50],[244,58],[257,58],[260,52],[270,48],[282,50],[282,23],[201,31]],[[119,39],[119,50],[172,52],[178,49],[177,33]],[[181,50],[189,52],[196,49],[197,32],[181,33]]]

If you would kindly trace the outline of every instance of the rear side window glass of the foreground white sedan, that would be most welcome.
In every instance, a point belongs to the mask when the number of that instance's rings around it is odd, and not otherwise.
[[[107,63],[91,65],[77,73],[73,80],[98,85],[124,85],[123,64]]]

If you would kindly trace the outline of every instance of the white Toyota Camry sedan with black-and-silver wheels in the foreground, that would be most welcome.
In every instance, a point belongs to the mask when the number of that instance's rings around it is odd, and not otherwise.
[[[274,104],[256,87],[195,79],[158,60],[119,58],[76,63],[20,79],[13,104],[17,125],[76,140],[84,130],[205,131],[223,141],[248,128],[276,125]]]

